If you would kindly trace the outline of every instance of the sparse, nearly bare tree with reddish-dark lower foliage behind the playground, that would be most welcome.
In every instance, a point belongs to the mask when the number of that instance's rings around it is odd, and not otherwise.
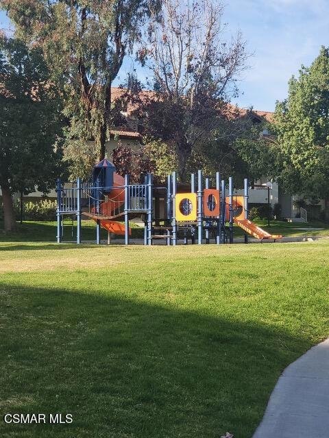
[[[175,144],[181,180],[195,144],[210,138],[245,68],[245,44],[240,34],[224,40],[222,15],[217,0],[164,0],[161,20],[151,22],[138,51],[160,95],[147,109],[146,128]]]

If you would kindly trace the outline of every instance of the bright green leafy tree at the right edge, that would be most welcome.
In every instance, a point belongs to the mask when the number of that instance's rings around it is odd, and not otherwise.
[[[276,105],[273,130],[282,153],[282,185],[291,193],[326,198],[329,214],[329,49],[289,81]]]

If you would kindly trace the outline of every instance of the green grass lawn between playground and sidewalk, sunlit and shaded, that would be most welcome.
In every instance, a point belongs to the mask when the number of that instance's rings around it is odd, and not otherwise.
[[[329,335],[328,259],[326,240],[0,243],[1,438],[252,437],[282,370]]]

